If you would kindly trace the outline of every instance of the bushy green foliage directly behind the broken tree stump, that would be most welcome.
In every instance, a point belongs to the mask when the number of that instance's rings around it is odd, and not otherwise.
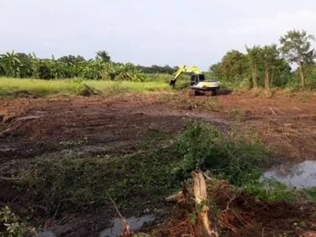
[[[209,125],[196,123],[179,137],[177,150],[183,160],[174,169],[180,179],[194,169],[209,170],[232,184],[258,179],[258,164],[264,162],[266,150],[259,140],[225,137]]]

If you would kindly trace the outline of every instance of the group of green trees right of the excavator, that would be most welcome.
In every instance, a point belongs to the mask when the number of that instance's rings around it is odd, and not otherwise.
[[[289,84],[316,88],[313,35],[305,30],[290,30],[276,44],[246,46],[246,53],[232,50],[210,66],[219,80],[247,83],[250,88],[283,87]],[[291,67],[292,66],[292,67]]]

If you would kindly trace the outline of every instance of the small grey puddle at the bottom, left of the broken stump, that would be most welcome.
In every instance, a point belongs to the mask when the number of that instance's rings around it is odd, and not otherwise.
[[[138,230],[146,222],[155,221],[154,215],[142,216],[140,218],[135,218],[134,216],[127,219],[127,222],[130,226],[130,230]],[[100,237],[116,237],[122,233],[123,224],[120,218],[115,218],[113,220],[113,227],[105,229],[101,232]]]

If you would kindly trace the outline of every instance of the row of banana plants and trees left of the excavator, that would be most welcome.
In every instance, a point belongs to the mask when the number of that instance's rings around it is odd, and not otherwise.
[[[82,77],[86,79],[122,78],[129,71],[133,78],[140,73],[173,74],[178,68],[165,66],[141,66],[127,63],[112,62],[106,51],[99,51],[95,58],[85,59],[77,55],[68,55],[55,59],[38,58],[35,54],[7,52],[0,55],[0,76],[15,78],[62,79]],[[127,74],[125,73],[125,76]]]

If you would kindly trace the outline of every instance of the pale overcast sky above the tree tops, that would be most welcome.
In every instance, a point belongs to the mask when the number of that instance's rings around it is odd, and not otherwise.
[[[231,49],[316,35],[315,0],[0,0],[0,53],[106,50],[114,61],[207,69]]]

